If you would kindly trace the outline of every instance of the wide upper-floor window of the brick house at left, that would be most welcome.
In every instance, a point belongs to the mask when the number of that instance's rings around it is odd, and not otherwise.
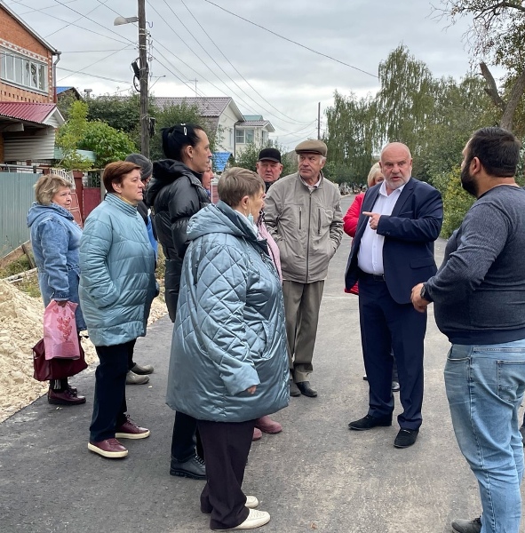
[[[5,82],[47,91],[47,65],[5,49],[0,50],[0,56],[0,77]]]

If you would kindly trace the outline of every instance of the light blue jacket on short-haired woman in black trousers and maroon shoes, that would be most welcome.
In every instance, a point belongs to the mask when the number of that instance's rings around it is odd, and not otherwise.
[[[155,252],[137,208],[107,195],[80,240],[80,305],[95,346],[146,335],[156,294]]]

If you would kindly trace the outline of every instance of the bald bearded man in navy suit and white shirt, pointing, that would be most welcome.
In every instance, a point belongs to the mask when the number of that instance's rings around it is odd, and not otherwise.
[[[410,177],[408,147],[388,144],[381,153],[385,181],[371,187],[362,203],[346,266],[346,289],[359,281],[362,354],[370,386],[369,412],[350,429],[392,426],[395,354],[403,412],[394,446],[408,448],[418,438],[423,404],[423,342],[426,314],[410,302],[411,290],[436,271],[434,241],[440,235],[440,193]]]

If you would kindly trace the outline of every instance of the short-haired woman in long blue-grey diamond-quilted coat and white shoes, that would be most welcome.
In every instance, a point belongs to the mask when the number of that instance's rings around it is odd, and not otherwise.
[[[281,281],[254,223],[264,191],[255,172],[230,169],[219,179],[219,203],[187,227],[167,403],[198,420],[201,510],[211,513],[211,529],[270,520],[243,493],[244,467],[256,419],[289,402]]]

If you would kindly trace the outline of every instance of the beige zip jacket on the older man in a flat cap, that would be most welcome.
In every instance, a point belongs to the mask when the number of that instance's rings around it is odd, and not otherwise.
[[[268,189],[265,222],[281,252],[282,279],[311,283],[326,279],[341,243],[343,217],[338,187],[321,178],[310,192],[298,172]]]

